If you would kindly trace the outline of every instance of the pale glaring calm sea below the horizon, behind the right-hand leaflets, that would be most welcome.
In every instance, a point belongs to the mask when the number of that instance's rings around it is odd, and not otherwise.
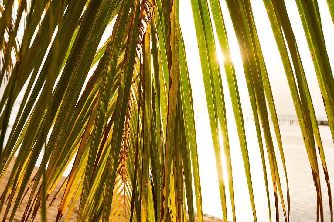
[[[236,128],[234,126],[235,124],[233,123],[233,121],[233,117],[228,118],[228,133],[232,160],[236,221],[254,221],[251,202],[249,200],[249,193],[243,167],[240,145],[236,134]],[[215,159],[208,117],[199,116],[198,118],[196,118],[195,124],[202,189],[203,213],[222,218],[223,215],[219,197],[218,180],[215,168]],[[311,167],[308,161],[300,128],[298,125],[280,125],[280,130],[282,134],[281,136],[290,190],[290,221],[316,221],[316,190],[313,183]],[[332,158],[334,156],[333,140],[328,126],[319,126],[319,130],[324,146],[325,157],[327,157],[326,161],[329,177],[330,181],[332,182],[334,181],[334,161],[332,161]],[[265,189],[262,161],[254,124],[245,124],[245,131],[249,162],[251,165],[257,219],[258,221],[269,221],[268,200]],[[273,128],[271,129],[271,132],[273,138],[275,138]],[[279,163],[283,196],[287,207],[287,188],[285,185],[286,182],[284,177],[283,165],[280,159],[280,153],[276,140],[274,141],[274,144],[275,143],[276,157]],[[272,188],[273,185],[270,176],[268,155],[266,151],[265,156],[267,163],[267,173],[269,174],[268,186],[270,193],[272,219],[276,221],[274,191]],[[321,167],[319,170],[321,172],[320,179],[322,195],[324,199],[325,221],[330,221],[327,185],[325,183],[323,169],[320,161],[318,161],[318,165],[319,167]],[[224,173],[224,178],[227,178],[226,172]],[[226,198],[228,206],[230,206],[227,179],[225,185],[227,191]],[[280,218],[282,218],[281,220],[284,221],[283,210],[280,204],[281,203],[279,202]],[[227,211],[228,220],[233,220],[231,207],[227,208]]]

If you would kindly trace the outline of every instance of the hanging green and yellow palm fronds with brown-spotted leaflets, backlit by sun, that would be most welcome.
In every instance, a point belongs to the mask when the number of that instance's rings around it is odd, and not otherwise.
[[[333,19],[333,4],[327,3]],[[334,141],[334,80],[318,3],[296,0],[296,4]],[[320,157],[333,221],[329,169],[295,30],[284,1],[264,0],[264,5],[272,27],[268,32],[274,34],[281,55],[311,166],[317,218],[327,218]],[[276,220],[282,208],[282,219],[289,221],[291,199],[284,143],[252,3],[227,0],[226,6],[255,120],[269,220],[274,217],[268,184],[271,177]],[[225,106],[228,90],[249,200],[257,221],[259,211],[254,201],[241,94],[227,38],[227,32],[232,31],[225,27],[220,1],[191,0],[191,8],[223,219],[229,219],[231,209],[233,221],[238,221]],[[4,221],[13,221],[17,216],[21,221],[35,219],[40,208],[41,220],[50,220],[46,203],[50,201],[51,206],[58,199],[55,221],[63,214],[68,221],[76,205],[76,221],[195,221],[195,209],[198,221],[203,221],[188,71],[191,59],[187,61],[189,55],[179,23],[181,11],[178,0],[1,2],[0,180],[13,161],[0,197]],[[217,53],[224,56],[223,64],[217,61]],[[228,87],[222,84],[222,68]],[[16,101],[20,106],[14,113]],[[284,173],[279,171],[281,162]],[[55,189],[66,169],[70,173]],[[281,181],[285,181],[283,186]],[[23,202],[24,198],[28,198],[27,202]],[[18,215],[19,207],[24,207],[23,215]]]

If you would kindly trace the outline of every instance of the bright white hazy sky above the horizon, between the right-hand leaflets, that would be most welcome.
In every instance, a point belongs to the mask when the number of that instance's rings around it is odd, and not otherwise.
[[[241,57],[234,34],[232,22],[227,11],[225,1],[221,0],[221,7],[224,17],[224,22],[227,30],[228,40],[231,49],[232,61],[235,67],[235,72],[238,81],[238,88],[240,92],[240,99],[242,103],[243,113],[246,116],[252,115],[252,109],[249,102],[247,86],[243,73]],[[304,35],[303,26],[299,17],[298,8],[294,0],[286,0],[288,14],[291,21],[292,28],[297,40],[299,52],[304,65],[304,70],[308,80],[311,97],[314,109],[319,120],[327,119],[318,81],[313,67],[310,51]],[[319,0],[319,10],[322,19],[323,32],[327,47],[327,53],[330,59],[331,67],[334,67],[334,26],[328,10],[326,0]],[[265,57],[266,67],[270,78],[272,91],[274,94],[274,101],[279,117],[295,117],[295,108],[292,102],[291,93],[288,82],[284,72],[282,60],[276,46],[274,34],[271,31],[271,25],[267,12],[262,0],[251,0],[253,14],[255,18],[256,28],[258,31],[260,44]],[[189,75],[192,86],[192,93],[194,98],[195,115],[206,114],[206,100],[203,86],[203,78],[201,73],[200,59],[196,41],[196,32],[194,21],[192,17],[190,0],[180,1],[180,25],[182,34],[185,40],[185,49],[187,56],[187,63]],[[332,50],[331,50],[332,49]],[[220,58],[219,58],[220,57]],[[222,56],[218,55],[218,61],[222,62]],[[232,111],[231,102],[229,99],[229,91],[226,82],[226,76],[223,66],[220,66],[223,90],[225,96],[226,109]],[[205,105],[203,105],[205,104]]]

